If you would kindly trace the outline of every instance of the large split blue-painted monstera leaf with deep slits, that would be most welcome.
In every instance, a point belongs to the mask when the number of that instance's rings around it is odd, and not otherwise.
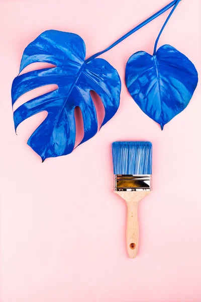
[[[25,49],[20,72],[34,62],[47,62],[56,67],[34,70],[15,78],[12,86],[13,104],[24,93],[49,84],[58,89],[34,98],[14,112],[15,127],[28,117],[47,111],[48,115],[30,136],[28,144],[44,161],[72,152],[75,143],[74,109],[79,107],[84,124],[84,142],[97,132],[95,106],[90,91],[95,91],[105,107],[102,126],[119,107],[121,82],[117,70],[106,60],[96,58],[85,62],[85,44],[73,33],[49,30]]]

